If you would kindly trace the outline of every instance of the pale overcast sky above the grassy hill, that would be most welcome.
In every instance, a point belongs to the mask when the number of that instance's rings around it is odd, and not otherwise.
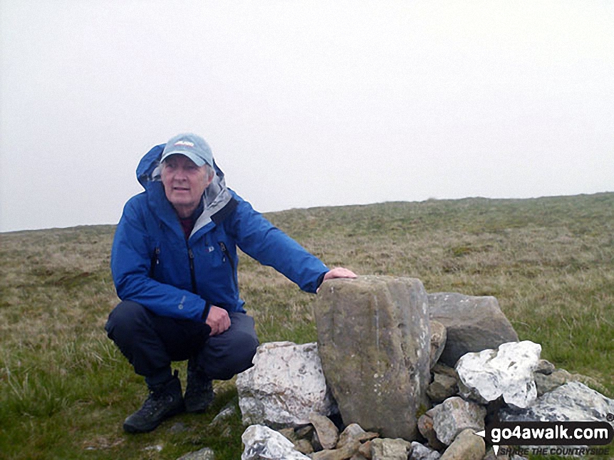
[[[260,211],[614,191],[614,1],[0,0],[0,231],[202,135]]]

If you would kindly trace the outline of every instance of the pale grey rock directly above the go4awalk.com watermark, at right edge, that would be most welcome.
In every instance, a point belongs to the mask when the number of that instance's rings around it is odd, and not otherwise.
[[[568,382],[538,397],[526,409],[501,409],[499,419],[503,422],[603,422],[608,414],[614,414],[614,399],[583,383]]]

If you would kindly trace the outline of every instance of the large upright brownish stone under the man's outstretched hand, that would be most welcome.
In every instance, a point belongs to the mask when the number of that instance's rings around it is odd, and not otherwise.
[[[415,439],[430,380],[427,293],[420,280],[326,281],[315,310],[322,367],[343,422]]]

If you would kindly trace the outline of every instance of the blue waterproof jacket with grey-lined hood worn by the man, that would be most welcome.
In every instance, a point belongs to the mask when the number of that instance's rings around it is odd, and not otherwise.
[[[244,312],[237,246],[303,291],[316,292],[328,268],[228,189],[215,164],[202,214],[186,241],[160,182],[164,147],[153,147],[140,161],[137,179],[145,192],[128,200],[115,231],[111,271],[120,299],[157,315],[192,320],[204,320],[210,305]]]

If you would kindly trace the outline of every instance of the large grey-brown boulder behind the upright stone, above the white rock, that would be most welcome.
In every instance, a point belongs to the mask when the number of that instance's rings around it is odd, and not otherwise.
[[[446,327],[447,339],[439,361],[454,367],[469,352],[517,342],[518,334],[491,296],[474,297],[459,293],[428,295],[429,316]]]

